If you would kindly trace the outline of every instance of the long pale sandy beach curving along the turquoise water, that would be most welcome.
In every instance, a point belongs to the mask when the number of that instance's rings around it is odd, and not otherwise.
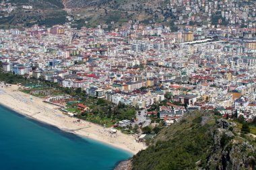
[[[62,114],[56,105],[45,103],[41,98],[34,96],[30,99],[30,95],[18,91],[18,85],[0,87],[0,103],[24,116],[51,124],[61,130],[73,132],[79,136],[86,136],[110,144],[134,155],[141,149],[146,148],[143,143],[136,142],[135,137],[132,135],[123,134],[119,130],[117,134],[110,134],[110,128],[103,128],[84,120],[77,122],[77,118]]]

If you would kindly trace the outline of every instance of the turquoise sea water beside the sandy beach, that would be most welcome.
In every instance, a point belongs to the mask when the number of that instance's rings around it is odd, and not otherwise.
[[[132,155],[36,122],[0,105],[0,169],[113,169]]]

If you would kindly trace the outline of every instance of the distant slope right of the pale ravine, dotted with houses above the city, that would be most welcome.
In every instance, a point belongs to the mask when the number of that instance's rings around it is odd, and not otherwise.
[[[248,21],[240,17],[239,22],[234,18],[224,17],[224,13],[230,13],[234,6],[240,7],[237,13],[244,9],[253,11],[255,1],[232,1],[230,5],[218,1],[168,1],[168,0],[63,0],[65,9],[71,15],[79,14],[85,26],[97,26],[107,24],[110,27],[120,27],[129,20],[139,21],[143,24],[164,24],[170,26],[172,32],[186,26],[217,26],[228,24],[245,24],[255,20],[253,14],[247,15]],[[113,15],[117,13],[117,15]],[[251,12],[249,12],[251,13]],[[231,13],[230,13],[231,15]],[[233,12],[232,15],[237,15]]]

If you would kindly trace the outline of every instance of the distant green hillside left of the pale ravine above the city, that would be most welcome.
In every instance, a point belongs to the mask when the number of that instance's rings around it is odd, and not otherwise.
[[[34,24],[65,24],[67,13],[62,0],[0,0],[0,28],[23,28]],[[32,8],[30,8],[32,7]]]

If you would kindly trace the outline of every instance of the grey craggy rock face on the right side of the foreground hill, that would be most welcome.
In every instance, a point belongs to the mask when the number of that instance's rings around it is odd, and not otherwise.
[[[236,141],[237,137],[228,130],[230,127],[232,125],[224,119],[216,122],[216,128],[212,132],[214,143],[205,169],[255,169],[255,157],[248,154],[255,155],[255,149],[249,142]]]

